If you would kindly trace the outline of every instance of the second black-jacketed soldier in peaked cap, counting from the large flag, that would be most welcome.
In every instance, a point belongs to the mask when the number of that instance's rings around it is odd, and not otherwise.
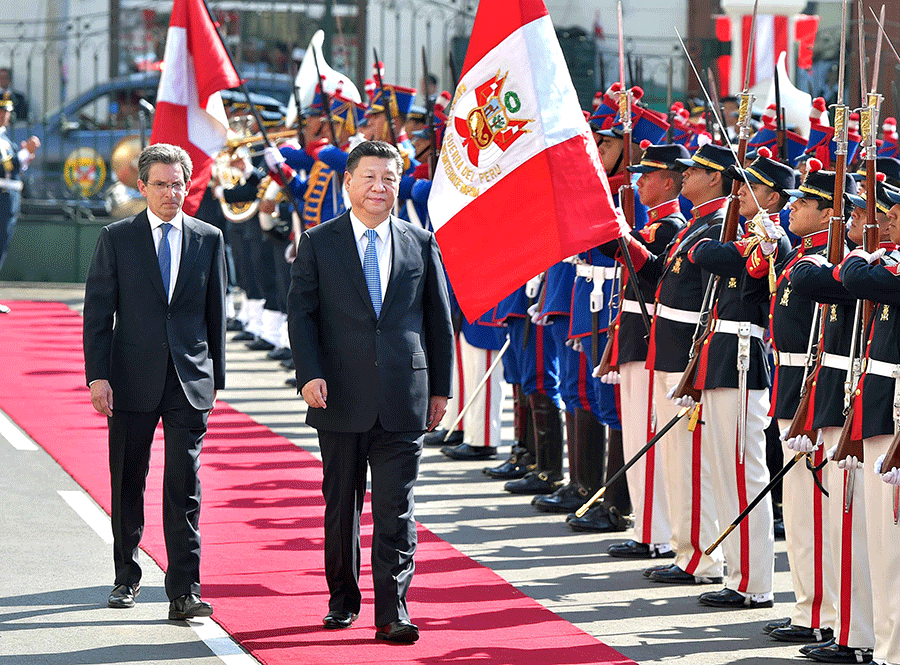
[[[688,253],[698,242],[721,235],[726,194],[731,191],[725,169],[734,164],[734,156],[726,148],[705,144],[693,159],[681,159],[678,163],[686,169],[681,195],[694,205],[688,225],[657,254],[651,254],[641,242],[628,245],[638,275],[657,282],[647,368],[654,374],[658,423],[669,422],[679,411],[667,395],[678,385],[688,365],[693,339],[700,331],[704,294],[711,280],[709,272],[688,260]],[[666,471],[675,563],[646,569],[644,575],[654,582],[722,582],[721,551],[704,553],[717,535],[710,462],[702,445],[706,430],[702,423],[704,411],[702,405],[695,407],[690,420],[684,418],[676,423],[657,444]]]

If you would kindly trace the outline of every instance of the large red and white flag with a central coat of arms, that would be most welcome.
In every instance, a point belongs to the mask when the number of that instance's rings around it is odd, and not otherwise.
[[[428,213],[469,321],[624,232],[542,0],[479,3]]]

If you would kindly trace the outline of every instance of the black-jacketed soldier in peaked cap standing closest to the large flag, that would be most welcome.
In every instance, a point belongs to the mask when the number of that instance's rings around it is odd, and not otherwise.
[[[639,231],[632,231],[652,254],[660,254],[675,235],[686,225],[681,214],[681,165],[678,159],[687,159],[690,153],[682,145],[651,145],[641,143],[644,154],[640,164],[627,167],[631,173],[640,174],[637,181],[641,202],[647,206],[647,224]],[[615,256],[617,242],[603,246],[607,256]],[[619,397],[623,414],[622,447],[625,459],[631,459],[655,434],[658,422],[653,399],[653,370],[646,367],[647,339],[649,337],[641,314],[641,305],[634,293],[635,285],[627,272],[622,276],[622,300],[619,315],[612,326],[609,342],[609,367],[611,371],[600,377],[601,382],[619,384]],[[654,295],[657,280],[638,275],[638,288],[643,301],[648,304],[648,315],[653,316]],[[600,369],[604,371],[606,368]],[[628,494],[634,510],[634,538],[611,545],[607,550],[612,556],[625,558],[674,557],[670,541],[672,528],[669,522],[669,506],[666,500],[665,473],[662,459],[655,448],[627,472]]]

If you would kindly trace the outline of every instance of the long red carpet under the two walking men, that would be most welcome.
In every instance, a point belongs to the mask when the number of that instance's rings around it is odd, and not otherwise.
[[[108,512],[106,419],[84,385],[81,317],[59,303],[10,305],[12,313],[0,317],[0,408]],[[165,567],[161,462],[157,445],[143,547]],[[365,564],[370,523],[363,529],[361,616],[351,629],[326,631],[320,463],[220,402],[202,464],[203,596],[214,603],[216,621],[263,663],[633,662],[421,526],[409,597],[420,640],[374,640]]]

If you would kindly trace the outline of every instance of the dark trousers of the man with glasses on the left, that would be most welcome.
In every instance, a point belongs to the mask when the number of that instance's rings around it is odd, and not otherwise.
[[[108,420],[116,584],[133,586],[141,579],[138,546],[144,533],[144,488],[153,433],[162,418],[166,441],[163,532],[169,561],[166,594],[170,600],[186,593],[200,594],[200,478],[197,474],[208,416],[208,411],[198,411],[188,403],[171,358],[162,402],[155,411],[113,409]]]

